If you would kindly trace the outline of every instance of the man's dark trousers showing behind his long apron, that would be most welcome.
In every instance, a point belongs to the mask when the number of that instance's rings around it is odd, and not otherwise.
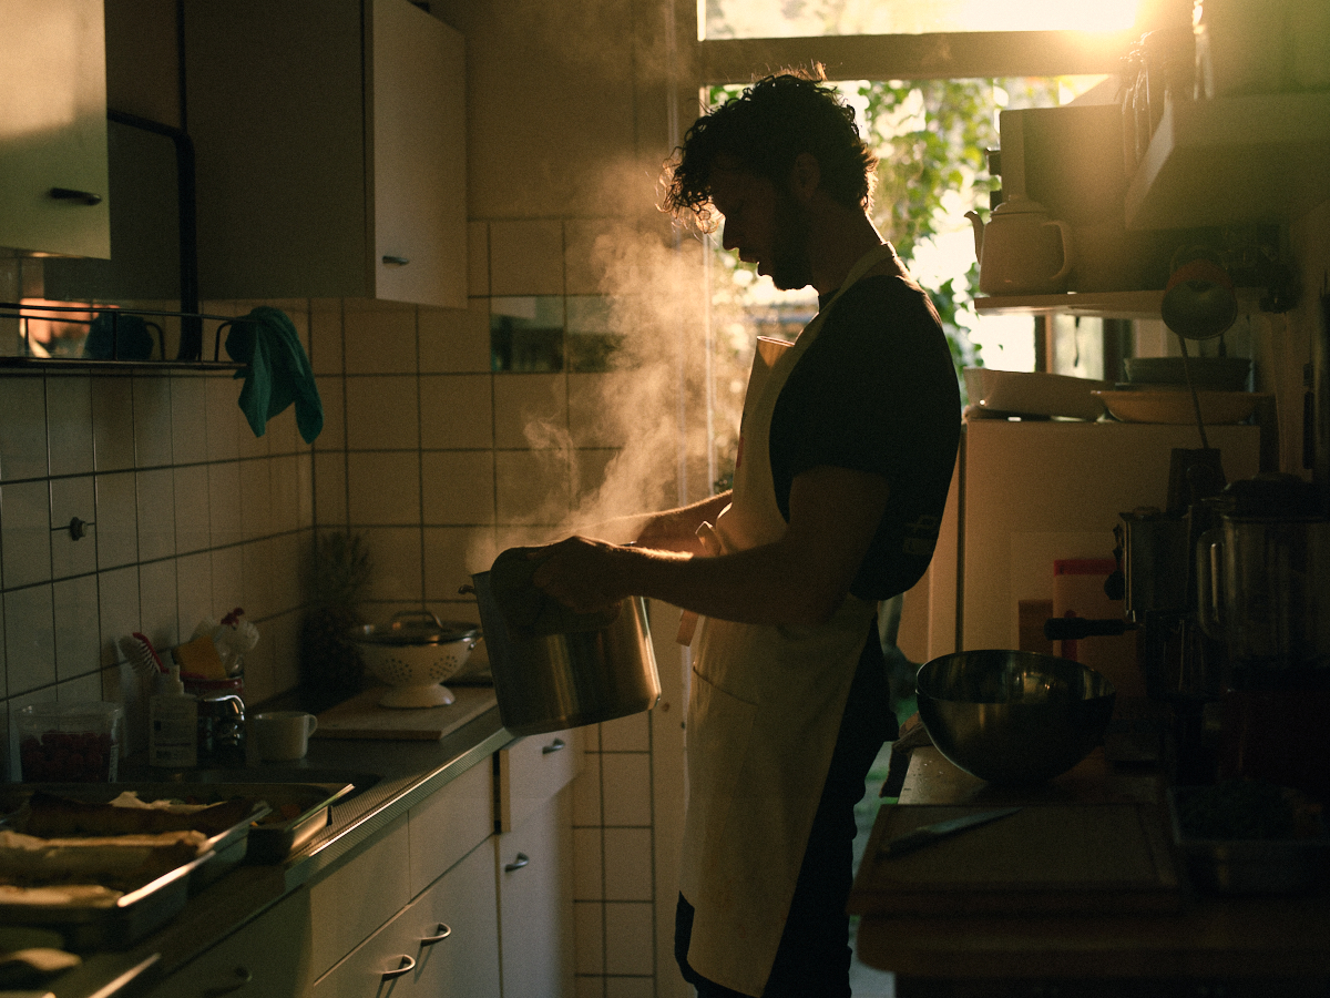
[[[762,998],[850,998],[850,919],[845,913],[854,880],[854,805],[883,741],[896,737],[891,691],[876,621],[850,687],[826,786],[799,866],[790,914]],[[698,998],[738,998],[688,963],[693,906],[680,894],[674,914],[674,958]]]

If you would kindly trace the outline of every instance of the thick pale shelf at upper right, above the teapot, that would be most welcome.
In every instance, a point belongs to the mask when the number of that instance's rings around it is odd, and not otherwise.
[[[1330,200],[1330,93],[1169,102],[1127,189],[1128,229],[1278,224]]]

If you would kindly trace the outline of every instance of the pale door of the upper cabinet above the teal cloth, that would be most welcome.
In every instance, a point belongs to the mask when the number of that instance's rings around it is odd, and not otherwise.
[[[467,307],[462,35],[404,0],[374,0],[375,297]]]

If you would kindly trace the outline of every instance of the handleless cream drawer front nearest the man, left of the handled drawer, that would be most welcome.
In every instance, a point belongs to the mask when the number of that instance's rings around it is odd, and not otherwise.
[[[487,757],[411,809],[411,896],[493,832],[495,785]]]

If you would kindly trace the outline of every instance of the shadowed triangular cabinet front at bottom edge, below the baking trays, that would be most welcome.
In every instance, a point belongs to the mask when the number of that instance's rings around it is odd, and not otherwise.
[[[146,998],[299,998],[309,994],[311,982],[310,896],[298,890],[168,977]]]

